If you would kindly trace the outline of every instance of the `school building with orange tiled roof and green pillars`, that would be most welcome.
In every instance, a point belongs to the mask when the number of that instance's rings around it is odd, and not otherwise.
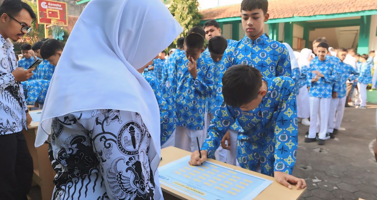
[[[240,40],[245,35],[240,9],[240,3],[202,9],[200,25],[215,19],[225,38]],[[311,48],[314,40],[326,37],[332,47],[355,48],[360,54],[377,50],[375,0],[270,0],[268,13],[265,32],[293,49]]]

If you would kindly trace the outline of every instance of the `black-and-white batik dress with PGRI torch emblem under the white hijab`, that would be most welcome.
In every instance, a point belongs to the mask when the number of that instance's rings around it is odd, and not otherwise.
[[[150,134],[139,113],[87,110],[53,118],[53,200],[154,199]]]

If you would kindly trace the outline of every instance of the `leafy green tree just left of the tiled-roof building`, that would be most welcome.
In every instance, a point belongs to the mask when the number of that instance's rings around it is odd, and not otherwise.
[[[184,28],[179,37],[185,37],[192,27],[199,24],[202,15],[198,11],[198,6],[198,0],[173,0],[170,4],[170,12]]]

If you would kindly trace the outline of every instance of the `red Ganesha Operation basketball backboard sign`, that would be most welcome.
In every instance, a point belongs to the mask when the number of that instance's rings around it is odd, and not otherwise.
[[[67,3],[50,0],[37,0],[38,24],[68,26]]]

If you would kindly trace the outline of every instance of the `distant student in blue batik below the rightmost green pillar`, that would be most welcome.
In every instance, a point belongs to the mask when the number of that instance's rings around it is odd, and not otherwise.
[[[373,57],[369,57],[368,54],[360,56],[359,63],[357,63],[357,70],[360,75],[357,79],[357,88],[359,90],[358,98],[355,101],[355,105],[359,105],[356,108],[365,109],[366,107],[366,87],[372,83]]]

